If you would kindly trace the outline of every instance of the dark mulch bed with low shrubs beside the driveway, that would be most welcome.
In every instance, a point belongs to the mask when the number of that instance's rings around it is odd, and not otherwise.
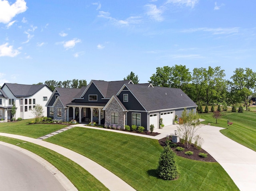
[[[170,137],[169,140],[171,141],[172,138]],[[166,146],[165,142],[166,142],[166,138],[162,138],[160,140],[158,140],[159,144],[161,146]],[[186,146],[180,142],[178,142],[177,144],[177,147],[183,147],[185,148],[184,151],[177,151],[176,148],[172,148],[172,150],[178,155],[178,156],[181,156],[181,157],[184,157],[184,158],[188,158],[188,159],[193,159],[193,160],[198,160],[198,161],[204,161],[204,162],[217,162],[210,154],[208,154],[208,152],[206,152],[205,150],[201,149],[201,150],[198,150],[196,147],[194,147],[194,145],[192,144],[190,146],[190,148],[186,148]],[[187,151],[193,151],[194,154],[193,155],[186,155],[184,152],[187,152]],[[199,153],[207,153],[207,157],[206,158],[202,158],[200,157],[198,154]]]

